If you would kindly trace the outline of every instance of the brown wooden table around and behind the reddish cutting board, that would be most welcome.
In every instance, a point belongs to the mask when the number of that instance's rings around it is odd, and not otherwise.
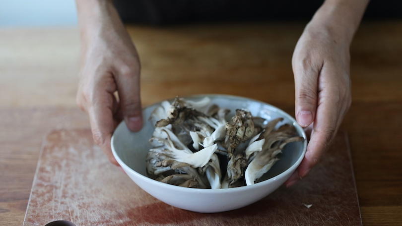
[[[219,93],[294,115],[304,23],[129,26],[144,105]],[[44,134],[88,127],[75,107],[76,28],[0,29],[0,225],[22,225]],[[363,22],[351,47],[349,135],[363,225],[402,224],[402,21]],[[341,191],[339,191],[341,192]]]

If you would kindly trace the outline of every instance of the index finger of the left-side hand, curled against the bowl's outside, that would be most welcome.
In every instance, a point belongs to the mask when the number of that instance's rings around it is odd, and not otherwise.
[[[113,97],[110,93],[101,91],[100,89],[99,91],[95,91],[93,95],[92,104],[88,108],[93,139],[108,157],[109,161],[119,166],[110,146],[110,139],[115,129],[112,113]]]

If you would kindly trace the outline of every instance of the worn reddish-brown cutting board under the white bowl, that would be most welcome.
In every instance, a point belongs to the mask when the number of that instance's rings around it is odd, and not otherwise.
[[[89,129],[54,130],[42,145],[24,226],[56,220],[76,226],[362,225],[344,132],[296,185],[282,186],[238,210],[201,214],[169,206],[144,192],[108,162]]]

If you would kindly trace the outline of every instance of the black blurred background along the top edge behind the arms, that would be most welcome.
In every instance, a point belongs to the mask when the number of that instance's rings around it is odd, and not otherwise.
[[[124,22],[175,24],[189,22],[305,20],[324,0],[115,0]],[[363,19],[402,18],[402,0],[372,0]]]

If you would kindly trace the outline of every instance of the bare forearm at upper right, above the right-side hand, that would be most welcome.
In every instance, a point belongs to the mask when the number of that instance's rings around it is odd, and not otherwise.
[[[321,25],[334,40],[350,45],[369,0],[326,0],[309,25]]]

